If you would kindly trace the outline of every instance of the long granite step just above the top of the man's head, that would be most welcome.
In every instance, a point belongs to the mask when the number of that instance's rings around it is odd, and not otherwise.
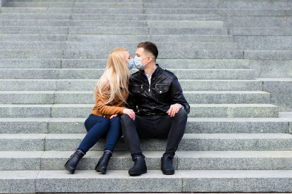
[[[1,34],[0,41],[38,42],[233,42],[230,35]]]

